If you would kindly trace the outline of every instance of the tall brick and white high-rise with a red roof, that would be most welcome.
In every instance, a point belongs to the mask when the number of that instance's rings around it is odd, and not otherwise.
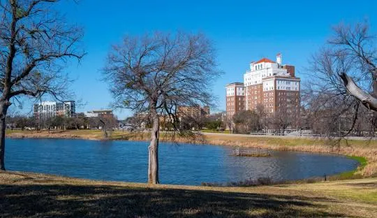
[[[241,89],[242,83],[238,84]],[[269,117],[284,117],[290,128],[300,126],[300,78],[295,77],[295,66],[282,65],[281,54],[276,54],[276,61],[267,58],[252,61],[250,70],[244,74],[243,85],[244,110],[256,110],[262,105]],[[228,115],[234,115],[242,107],[232,108],[235,102],[230,101],[228,86],[226,109]]]

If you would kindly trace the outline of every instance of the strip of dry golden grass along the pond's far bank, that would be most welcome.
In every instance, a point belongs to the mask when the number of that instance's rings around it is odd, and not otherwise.
[[[99,130],[71,130],[71,131],[7,131],[6,136],[14,138],[82,138],[90,140],[103,140],[103,132]],[[149,133],[129,133],[126,131],[113,131],[110,140],[149,140]],[[172,140],[169,133],[161,133],[162,141]],[[338,146],[330,140],[316,138],[289,138],[289,137],[251,137],[235,136],[231,134],[207,134],[198,138],[175,137],[180,143],[197,143],[211,145],[226,145],[253,147],[282,151],[321,152],[330,154],[343,154],[349,157],[360,157],[360,167],[334,179],[350,177],[373,177],[377,175],[377,140],[348,140],[341,141]],[[364,158],[364,159],[361,159]]]

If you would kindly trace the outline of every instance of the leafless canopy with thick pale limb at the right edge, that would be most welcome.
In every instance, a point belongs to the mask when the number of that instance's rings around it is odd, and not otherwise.
[[[375,123],[371,110],[377,108],[376,58],[376,38],[367,23],[334,27],[334,36],[311,58],[303,96],[311,117],[322,123],[320,129],[343,136],[360,126],[361,119]],[[345,120],[350,120],[348,131],[340,133]]]

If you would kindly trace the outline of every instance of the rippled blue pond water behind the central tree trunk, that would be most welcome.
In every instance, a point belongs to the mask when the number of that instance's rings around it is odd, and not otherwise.
[[[7,139],[8,170],[52,173],[96,180],[147,182],[145,142],[71,139]],[[353,170],[342,156],[272,152],[272,157],[231,157],[232,148],[214,145],[159,147],[160,182],[195,184],[272,177],[297,180]]]

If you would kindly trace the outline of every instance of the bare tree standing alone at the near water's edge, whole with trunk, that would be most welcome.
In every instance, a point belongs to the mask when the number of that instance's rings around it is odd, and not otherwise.
[[[148,182],[158,183],[161,115],[179,130],[179,106],[212,105],[210,86],[219,76],[214,49],[202,34],[126,36],[114,45],[104,68],[114,106],[147,113],[151,119]]]

